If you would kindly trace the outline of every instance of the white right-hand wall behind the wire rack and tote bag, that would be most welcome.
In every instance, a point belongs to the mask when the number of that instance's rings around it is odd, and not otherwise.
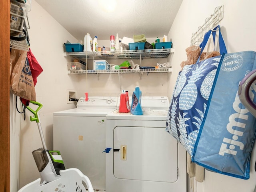
[[[256,51],[256,25],[253,21],[256,16],[256,2],[254,0],[183,0],[168,34],[168,37],[174,42],[173,47],[175,48],[171,60],[173,72],[170,78],[169,93],[172,93],[174,89],[174,82],[181,69],[180,63],[187,59],[185,49],[190,46],[192,33],[197,31],[198,26],[202,26],[205,19],[214,12],[216,6],[221,5],[224,5],[224,18],[220,22],[220,26],[228,52]],[[197,192],[253,192],[256,184],[255,160],[254,148],[249,180],[205,171],[204,182],[196,184]]]

